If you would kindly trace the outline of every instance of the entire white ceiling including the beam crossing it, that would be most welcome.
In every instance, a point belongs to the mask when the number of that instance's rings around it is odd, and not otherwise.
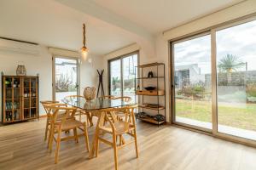
[[[166,31],[241,0],[1,0],[0,37],[78,50],[86,24],[90,54],[133,42],[153,42]]]

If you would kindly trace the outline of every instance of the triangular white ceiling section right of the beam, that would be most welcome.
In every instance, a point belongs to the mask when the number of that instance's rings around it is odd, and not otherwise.
[[[166,31],[243,0],[93,0],[152,33]]]

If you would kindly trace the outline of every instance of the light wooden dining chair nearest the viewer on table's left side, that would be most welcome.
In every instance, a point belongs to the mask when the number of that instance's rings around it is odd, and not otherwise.
[[[59,150],[61,146],[61,141],[67,140],[67,139],[74,139],[77,143],[79,143],[79,134],[77,132],[77,128],[83,129],[83,135],[85,139],[85,145],[86,149],[89,152],[89,139],[88,139],[88,133],[87,133],[87,125],[86,122],[80,122],[75,119],[75,113],[77,111],[74,107],[62,107],[58,106],[56,104],[49,104],[45,105],[45,108],[47,111],[50,112],[53,111],[53,115],[51,118],[51,129],[50,129],[50,135],[49,135],[49,150],[52,150],[52,143],[53,140],[56,143],[55,148],[55,163],[59,160]],[[61,120],[58,120],[57,117],[60,113],[60,111],[65,111],[64,116],[61,117]],[[73,118],[68,118],[73,117]],[[73,136],[67,136],[64,138],[61,138],[61,133],[66,132],[73,129]],[[57,137],[55,138],[55,133],[57,133]]]

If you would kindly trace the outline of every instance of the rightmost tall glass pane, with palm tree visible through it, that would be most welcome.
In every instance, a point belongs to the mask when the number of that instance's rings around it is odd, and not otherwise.
[[[256,21],[216,32],[218,131],[256,139]]]

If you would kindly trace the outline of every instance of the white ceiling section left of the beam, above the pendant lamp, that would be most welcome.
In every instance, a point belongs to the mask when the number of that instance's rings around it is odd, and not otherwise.
[[[90,54],[108,54],[135,42],[136,37],[130,32],[53,0],[0,2],[0,37],[79,50],[83,41],[83,22],[86,23]]]

